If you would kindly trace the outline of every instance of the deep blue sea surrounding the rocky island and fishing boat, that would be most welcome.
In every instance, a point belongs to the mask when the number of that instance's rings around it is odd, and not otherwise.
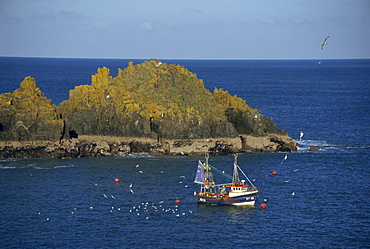
[[[129,61],[144,60],[0,57],[0,93],[32,76],[59,105],[99,67],[115,77]],[[198,205],[202,156],[6,158],[0,248],[370,248],[369,59],[162,62],[246,100],[299,143],[238,155],[259,189],[255,206]],[[233,160],[209,163],[232,174]]]

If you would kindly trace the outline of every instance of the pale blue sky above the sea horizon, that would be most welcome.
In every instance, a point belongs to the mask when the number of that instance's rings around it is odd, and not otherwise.
[[[0,56],[359,59],[369,26],[370,0],[0,0]]]

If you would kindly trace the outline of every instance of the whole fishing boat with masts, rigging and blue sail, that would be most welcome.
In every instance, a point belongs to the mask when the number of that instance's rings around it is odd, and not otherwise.
[[[211,166],[206,161],[198,161],[198,168],[194,182],[200,185],[199,191],[195,194],[198,204],[208,205],[254,205],[257,199],[258,189],[253,185],[249,178],[244,174],[237,163],[238,155],[234,156],[233,175],[227,175],[223,171]],[[231,183],[215,184],[212,170],[215,170],[232,180]],[[250,185],[245,180],[240,180],[239,172],[243,174]]]

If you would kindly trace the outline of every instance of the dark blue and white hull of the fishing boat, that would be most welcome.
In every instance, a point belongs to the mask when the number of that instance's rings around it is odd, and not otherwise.
[[[253,206],[256,202],[258,191],[250,191],[247,193],[240,194],[238,196],[208,196],[204,193],[198,193],[196,195],[196,200],[198,204],[206,205],[231,205],[231,206],[243,206],[249,205]]]

